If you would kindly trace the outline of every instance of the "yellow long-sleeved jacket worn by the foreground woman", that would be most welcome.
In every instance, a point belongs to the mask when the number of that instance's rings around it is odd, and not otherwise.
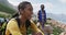
[[[38,30],[37,26],[33,23],[33,21],[31,21],[30,27],[35,33],[38,33],[38,32],[42,33],[41,30]],[[19,27],[15,19],[11,19],[7,25],[6,35],[10,35],[10,34],[12,34],[12,35],[25,35],[26,34],[25,32],[26,32],[25,26]]]

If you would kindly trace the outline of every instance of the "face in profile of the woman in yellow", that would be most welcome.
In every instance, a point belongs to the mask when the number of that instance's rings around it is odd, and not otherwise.
[[[30,20],[33,14],[33,8],[31,4],[28,4],[26,8],[24,9],[23,15],[25,19]]]

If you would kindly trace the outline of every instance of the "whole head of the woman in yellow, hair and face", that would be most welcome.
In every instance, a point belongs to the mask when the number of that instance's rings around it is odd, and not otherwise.
[[[25,19],[31,19],[31,15],[33,14],[32,4],[28,1],[21,2],[18,7],[18,10],[20,14]]]

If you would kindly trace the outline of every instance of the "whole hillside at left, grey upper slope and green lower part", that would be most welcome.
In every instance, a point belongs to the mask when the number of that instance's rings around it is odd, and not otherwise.
[[[8,0],[0,0],[0,18],[7,18],[10,14],[14,14],[14,12],[16,12],[15,9],[13,9],[14,7],[8,2]],[[3,14],[7,13],[7,14]]]

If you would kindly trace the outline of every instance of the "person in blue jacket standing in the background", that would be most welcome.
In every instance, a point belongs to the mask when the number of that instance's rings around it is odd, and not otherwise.
[[[38,11],[37,15],[42,30],[44,30],[44,24],[46,23],[46,12],[44,10],[44,4],[41,4],[41,10]]]

